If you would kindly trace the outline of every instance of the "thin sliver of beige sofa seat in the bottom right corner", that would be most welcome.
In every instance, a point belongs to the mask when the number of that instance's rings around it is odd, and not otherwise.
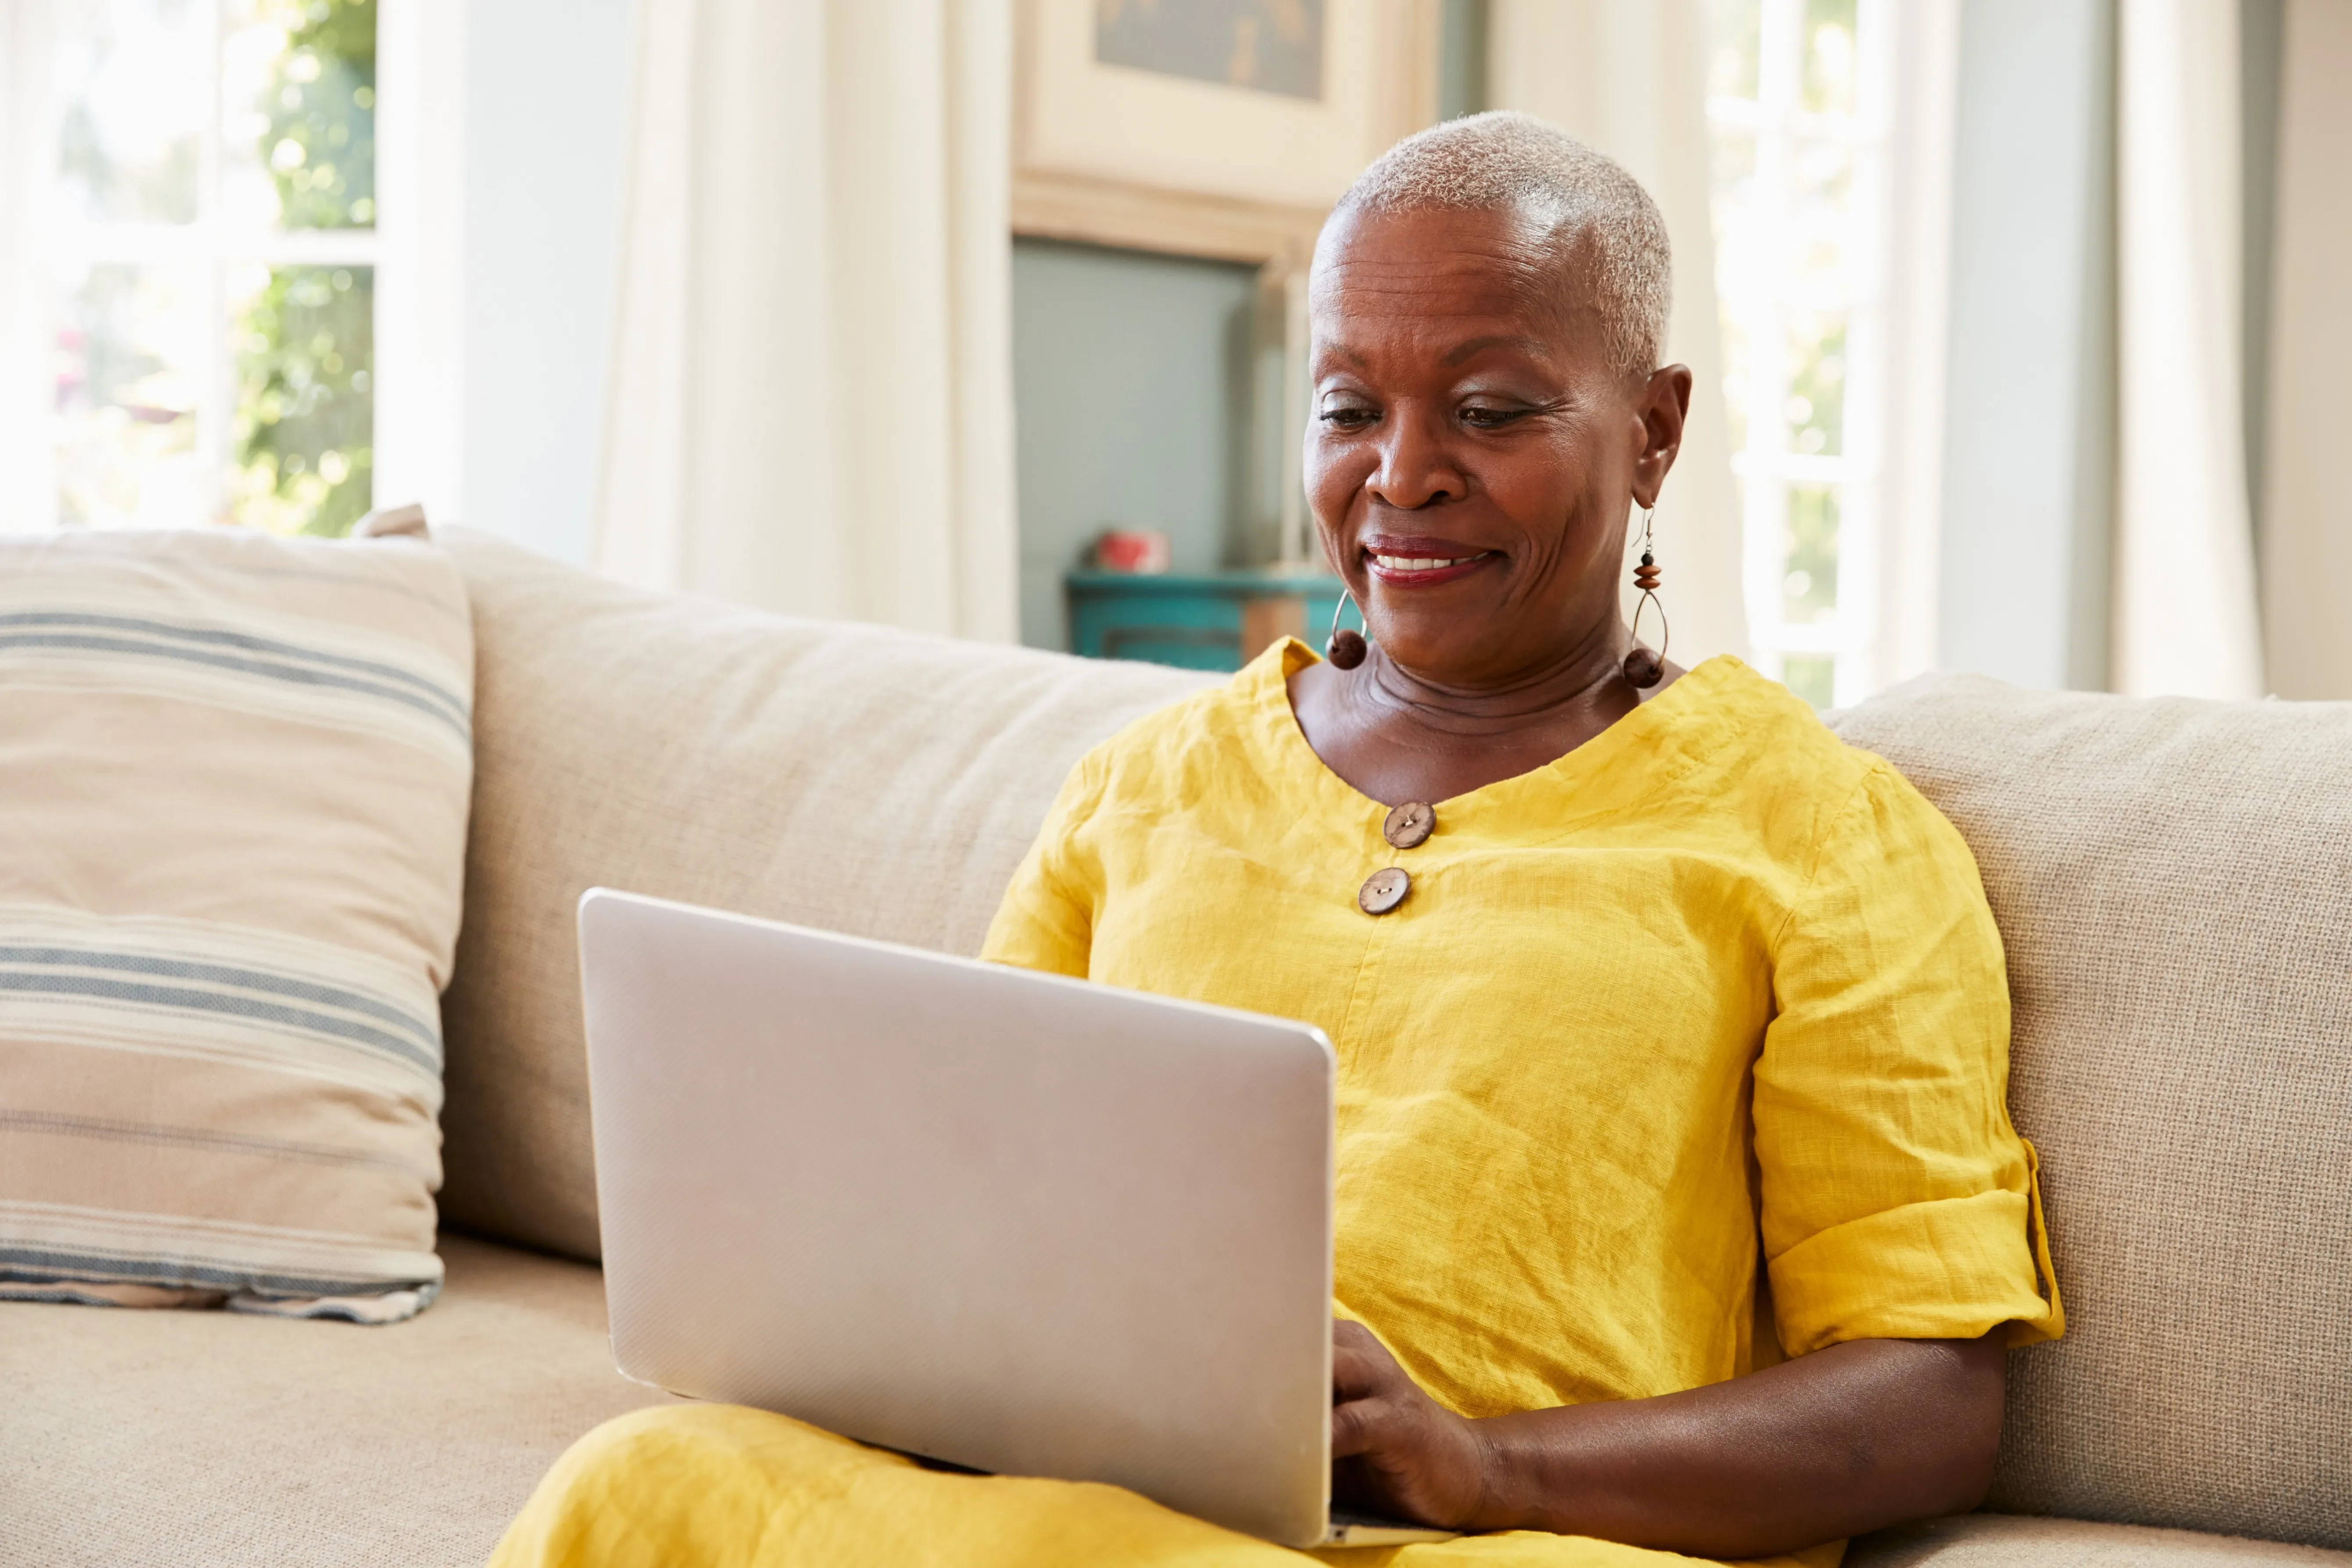
[[[2352,1552],[2086,1519],[1962,1514],[1865,1535],[1846,1568],[2352,1568]]]

